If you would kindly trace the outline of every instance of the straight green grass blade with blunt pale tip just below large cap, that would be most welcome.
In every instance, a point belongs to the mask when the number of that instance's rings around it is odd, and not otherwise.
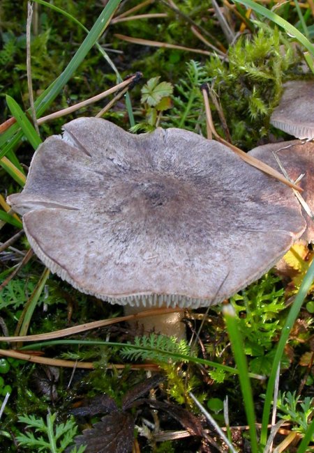
[[[232,352],[234,360],[239,369],[239,381],[241,386],[242,397],[244,399],[244,408],[246,410],[246,419],[248,420],[248,427],[251,439],[251,450],[257,453],[257,435],[255,428],[255,411],[253,404],[253,394],[251,389],[250,378],[248,377],[248,365],[246,363],[246,356],[244,354],[244,343],[239,332],[237,325],[237,317],[231,305],[223,307],[223,314],[227,331],[231,341]]]

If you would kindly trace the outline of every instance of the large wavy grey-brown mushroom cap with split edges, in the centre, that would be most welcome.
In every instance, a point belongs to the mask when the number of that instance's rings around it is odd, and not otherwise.
[[[21,194],[31,247],[75,288],[121,305],[200,307],[257,279],[304,232],[292,191],[179,129],[98,118],[36,151]]]

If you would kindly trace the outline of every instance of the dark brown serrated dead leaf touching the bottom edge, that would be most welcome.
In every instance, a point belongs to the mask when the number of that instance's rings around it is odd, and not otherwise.
[[[89,453],[128,453],[132,451],[135,420],[126,412],[105,415],[91,429],[75,438],[77,447],[87,445]]]

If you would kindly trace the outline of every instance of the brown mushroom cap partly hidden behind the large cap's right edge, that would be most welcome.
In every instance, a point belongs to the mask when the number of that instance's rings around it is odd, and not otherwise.
[[[262,160],[274,169],[281,171],[278,164],[280,161],[282,167],[292,181],[295,181],[301,174],[299,186],[303,189],[303,197],[308,207],[314,212],[314,143],[311,141],[302,142],[299,140],[283,141],[280,143],[257,146],[248,154]],[[276,160],[275,155],[278,160]],[[306,220],[306,231],[301,236],[302,240],[310,243],[314,240],[314,222],[311,217],[302,209],[304,219]]]

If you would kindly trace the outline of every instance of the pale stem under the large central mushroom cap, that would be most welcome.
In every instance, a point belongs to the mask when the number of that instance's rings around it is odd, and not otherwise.
[[[140,312],[146,312],[149,307],[130,307],[126,305],[124,307],[124,314],[137,314]],[[179,307],[178,307],[178,310]],[[140,325],[144,328],[144,335],[150,332],[156,332],[158,334],[167,335],[168,337],[176,337],[178,340],[186,338],[186,326],[182,322],[184,318],[184,312],[182,309],[178,312],[158,314],[155,316],[147,316],[145,318],[128,321],[128,323],[135,327]]]

